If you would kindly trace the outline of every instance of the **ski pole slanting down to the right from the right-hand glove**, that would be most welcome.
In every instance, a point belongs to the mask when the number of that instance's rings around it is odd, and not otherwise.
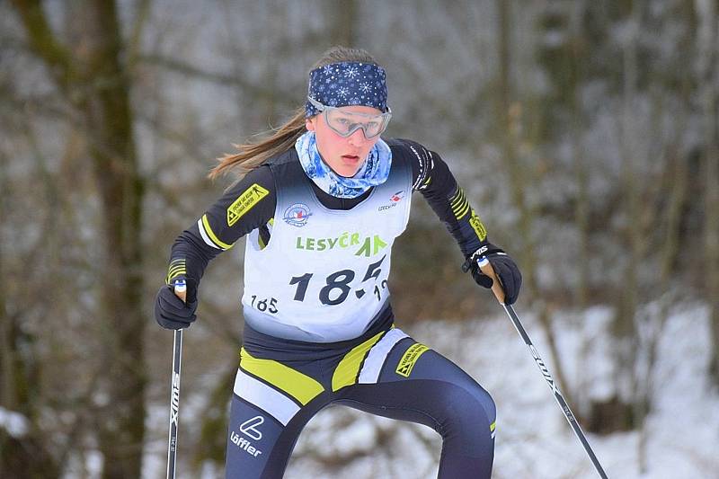
[[[599,476],[602,479],[608,479],[607,473],[604,472],[604,469],[599,464],[599,459],[597,459],[597,457],[594,455],[594,451],[591,450],[589,441],[587,440],[586,436],[584,436],[584,433],[581,431],[579,422],[577,422],[567,402],[564,401],[564,396],[559,391],[559,388],[556,386],[555,380],[552,378],[552,375],[549,374],[549,369],[546,368],[545,362],[542,360],[542,358],[539,357],[537,348],[534,347],[534,344],[532,344],[532,340],[529,339],[529,335],[519,321],[517,313],[514,312],[514,308],[511,305],[504,304],[504,290],[502,289],[502,283],[497,278],[497,275],[494,274],[492,264],[490,264],[489,260],[487,260],[486,258],[482,258],[482,260],[480,260],[479,262],[479,268],[484,274],[492,278],[492,292],[494,293],[494,296],[497,297],[497,300],[504,307],[504,311],[507,313],[507,315],[510,316],[512,324],[514,324],[514,327],[517,329],[517,332],[522,337],[525,344],[527,344],[529,350],[532,353],[532,358],[534,358],[534,360],[537,362],[539,370],[542,371],[542,376],[545,377],[550,389],[552,389],[552,392],[555,394],[556,402],[557,404],[559,404],[559,407],[562,408],[562,412],[564,412],[564,417],[567,419],[569,425],[572,427],[574,434],[576,434],[577,438],[579,438],[581,445],[584,447],[584,450],[587,451],[587,454],[589,455],[592,464],[594,465],[594,467],[597,468],[597,473],[599,473]]]

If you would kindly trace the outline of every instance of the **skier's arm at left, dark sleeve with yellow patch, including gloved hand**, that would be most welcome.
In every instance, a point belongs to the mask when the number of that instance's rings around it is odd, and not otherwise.
[[[205,214],[175,239],[165,286],[155,300],[155,320],[168,329],[188,327],[195,320],[197,291],[208,263],[242,236],[267,224],[277,201],[268,166],[256,168],[237,182]],[[177,279],[187,283],[187,303],[173,293]]]

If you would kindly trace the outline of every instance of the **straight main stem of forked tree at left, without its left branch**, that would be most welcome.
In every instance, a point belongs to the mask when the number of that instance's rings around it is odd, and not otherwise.
[[[145,436],[146,371],[143,337],[146,315],[140,244],[143,183],[138,174],[128,74],[120,66],[117,10],[110,2],[87,5],[98,28],[88,38],[93,50],[92,81],[84,118],[93,131],[91,155],[102,199],[105,263],[101,303],[109,326],[104,336],[109,408],[99,423],[104,457],[102,477],[139,477]],[[94,129],[91,126],[94,125]]]

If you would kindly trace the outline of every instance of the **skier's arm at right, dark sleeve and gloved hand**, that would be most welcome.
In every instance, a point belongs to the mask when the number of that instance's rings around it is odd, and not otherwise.
[[[478,265],[480,259],[486,258],[502,282],[505,303],[514,303],[519,296],[522,282],[517,263],[501,248],[489,242],[482,220],[469,204],[465,191],[459,186],[444,160],[418,143],[404,140],[404,144],[404,150],[413,165],[413,191],[422,193],[457,241],[466,260],[463,271],[472,271],[472,276],[479,285],[492,288],[492,279],[484,275]]]

